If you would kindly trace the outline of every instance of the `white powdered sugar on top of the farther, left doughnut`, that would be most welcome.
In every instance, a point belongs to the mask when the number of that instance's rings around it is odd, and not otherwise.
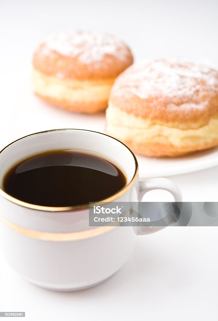
[[[44,54],[56,51],[63,56],[77,57],[82,63],[101,61],[105,55],[112,55],[121,61],[130,56],[127,46],[106,33],[90,31],[59,32],[46,41]]]

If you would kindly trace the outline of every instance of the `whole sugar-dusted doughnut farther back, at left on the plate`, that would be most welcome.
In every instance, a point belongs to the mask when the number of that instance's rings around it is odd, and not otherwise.
[[[60,32],[34,53],[34,92],[58,107],[95,113],[107,107],[115,78],[132,62],[130,49],[113,35]]]

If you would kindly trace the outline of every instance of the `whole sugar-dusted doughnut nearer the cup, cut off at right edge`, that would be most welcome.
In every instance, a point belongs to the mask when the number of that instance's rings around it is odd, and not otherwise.
[[[218,71],[180,59],[130,66],[113,85],[106,131],[147,156],[218,145]]]

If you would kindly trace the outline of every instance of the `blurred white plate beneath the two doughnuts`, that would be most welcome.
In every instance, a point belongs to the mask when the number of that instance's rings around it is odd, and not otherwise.
[[[58,128],[80,128],[104,133],[105,113],[76,114],[46,104],[34,96],[29,79],[21,86],[11,111],[12,140],[31,133]],[[218,148],[176,158],[136,156],[140,178],[172,176],[218,165]]]

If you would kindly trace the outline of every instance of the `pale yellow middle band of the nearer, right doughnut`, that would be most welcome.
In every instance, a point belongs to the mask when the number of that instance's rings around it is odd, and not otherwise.
[[[174,146],[195,146],[214,139],[218,140],[218,114],[199,128],[180,129],[157,124],[117,108],[111,104],[106,109],[106,131],[122,141],[146,144],[157,142],[171,143]]]

